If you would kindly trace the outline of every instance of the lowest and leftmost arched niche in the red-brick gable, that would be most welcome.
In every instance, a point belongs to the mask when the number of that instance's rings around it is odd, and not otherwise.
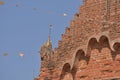
[[[64,64],[60,75],[60,80],[66,80],[66,78],[69,80],[73,80],[73,76],[71,74],[71,66],[69,63]]]

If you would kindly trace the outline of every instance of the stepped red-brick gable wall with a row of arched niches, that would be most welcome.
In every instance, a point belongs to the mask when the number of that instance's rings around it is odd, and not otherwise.
[[[36,80],[120,80],[120,0],[83,0],[41,65]]]

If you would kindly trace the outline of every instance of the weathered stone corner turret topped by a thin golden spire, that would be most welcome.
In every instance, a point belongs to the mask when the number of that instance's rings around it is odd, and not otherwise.
[[[42,62],[41,67],[44,67],[44,68],[50,67],[49,65],[51,62],[52,54],[53,54],[52,42],[50,39],[50,35],[51,35],[51,25],[50,25],[50,29],[49,29],[48,40],[40,49],[41,62]]]

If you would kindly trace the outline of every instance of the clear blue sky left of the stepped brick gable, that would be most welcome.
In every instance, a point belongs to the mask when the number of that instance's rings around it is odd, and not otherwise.
[[[0,5],[0,80],[33,80],[39,75],[38,51],[48,38],[49,25],[53,25],[51,40],[57,47],[82,0],[0,1],[4,2]]]

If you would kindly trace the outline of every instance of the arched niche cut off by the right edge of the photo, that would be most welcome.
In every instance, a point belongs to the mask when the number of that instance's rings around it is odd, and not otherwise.
[[[113,45],[115,52],[112,54],[113,59],[120,60],[120,42],[116,42]]]

